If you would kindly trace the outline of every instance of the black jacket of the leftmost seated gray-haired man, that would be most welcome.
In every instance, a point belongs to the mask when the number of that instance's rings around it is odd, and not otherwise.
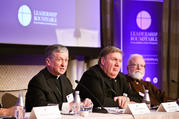
[[[49,104],[59,104],[61,109],[62,103],[67,101],[66,96],[72,93],[73,89],[71,82],[65,75],[60,76],[61,87],[57,87],[56,78],[45,68],[30,80],[25,101],[27,112],[30,112],[33,107]]]

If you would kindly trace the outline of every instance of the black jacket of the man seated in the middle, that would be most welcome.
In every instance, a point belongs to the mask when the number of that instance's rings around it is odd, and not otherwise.
[[[140,97],[129,89],[124,74],[119,73],[115,78],[117,90],[111,86],[111,80],[114,79],[110,79],[99,65],[95,65],[83,74],[79,82],[83,86],[78,84],[76,90],[80,91],[82,99],[90,98],[94,103],[94,107],[100,107],[101,105],[104,107],[118,107],[118,102],[114,102],[113,98],[122,96],[123,93],[127,93],[131,100],[141,102]],[[90,93],[84,86],[88,88]]]

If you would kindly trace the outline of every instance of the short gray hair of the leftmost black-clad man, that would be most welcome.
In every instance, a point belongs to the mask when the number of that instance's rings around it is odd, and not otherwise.
[[[67,47],[60,45],[60,44],[49,45],[45,49],[45,58],[53,57],[54,52],[68,52],[68,49]]]

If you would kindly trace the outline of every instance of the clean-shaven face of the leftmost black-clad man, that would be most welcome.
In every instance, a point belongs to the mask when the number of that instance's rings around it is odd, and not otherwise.
[[[46,65],[53,75],[64,74],[68,66],[68,52],[55,52],[53,57],[46,58]]]

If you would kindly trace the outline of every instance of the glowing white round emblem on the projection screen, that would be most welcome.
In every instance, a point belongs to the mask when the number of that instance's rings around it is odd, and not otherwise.
[[[32,20],[31,10],[27,5],[22,5],[18,10],[18,20],[22,26],[28,26]]]

